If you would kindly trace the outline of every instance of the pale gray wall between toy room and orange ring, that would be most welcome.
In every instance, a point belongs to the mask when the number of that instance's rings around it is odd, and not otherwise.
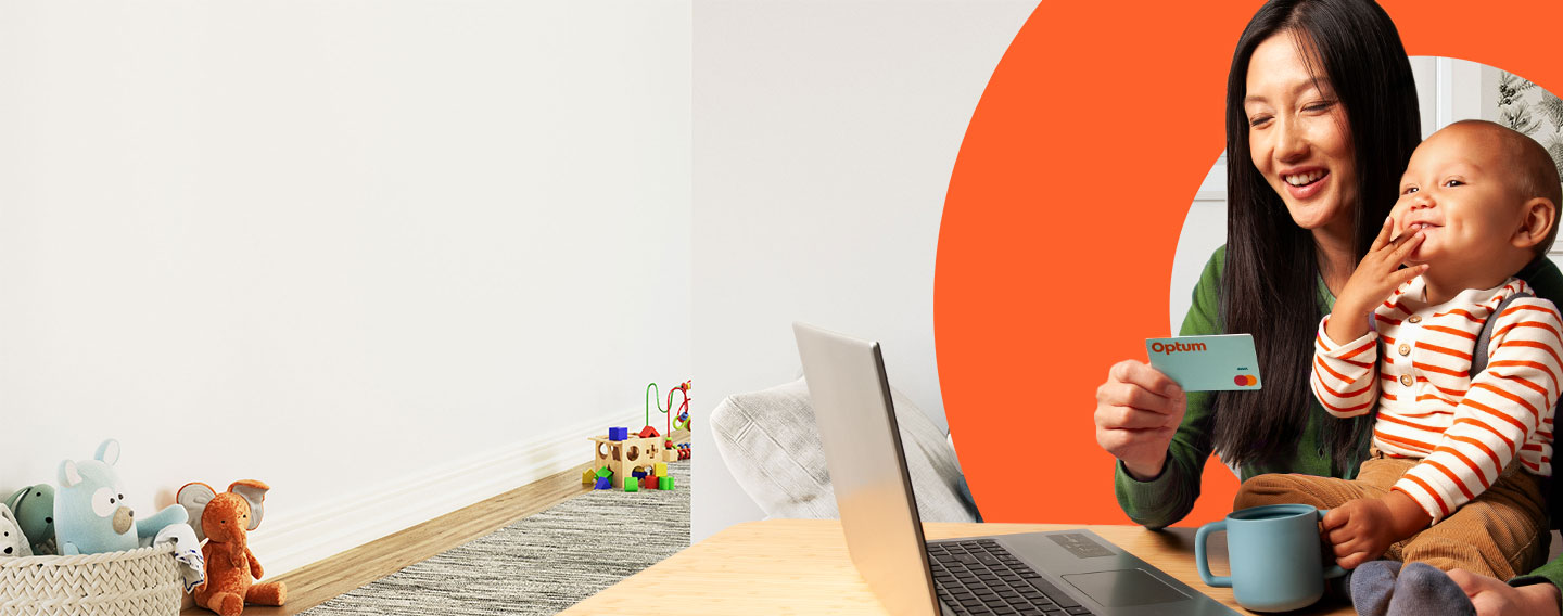
[[[792,321],[883,342],[944,421],[933,260],[950,169],[1035,0],[696,2],[696,421],[797,378]],[[699,424],[697,424],[699,425]],[[957,436],[958,438],[958,436]],[[763,513],[696,430],[696,541]]]

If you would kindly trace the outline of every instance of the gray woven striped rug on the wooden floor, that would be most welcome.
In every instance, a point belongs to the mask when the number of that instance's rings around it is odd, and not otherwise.
[[[306,616],[552,614],[689,547],[689,461],[671,492],[597,489],[441,552]]]

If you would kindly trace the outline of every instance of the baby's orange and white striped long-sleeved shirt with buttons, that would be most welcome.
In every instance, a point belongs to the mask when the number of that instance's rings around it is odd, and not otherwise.
[[[1319,324],[1313,396],[1336,417],[1379,406],[1374,446],[1422,458],[1393,489],[1416,499],[1433,522],[1486,491],[1515,458],[1535,475],[1552,475],[1552,410],[1563,378],[1557,306],[1540,297],[1510,302],[1488,349],[1474,349],[1493,310],[1521,291],[1535,294],[1508,278],[1427,305],[1418,277],[1374,310],[1377,331],[1338,346],[1324,333],[1329,316]],[[1488,364],[1471,378],[1479,350]]]

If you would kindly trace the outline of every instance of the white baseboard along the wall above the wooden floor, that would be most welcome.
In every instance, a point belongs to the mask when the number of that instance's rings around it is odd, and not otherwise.
[[[266,577],[302,568],[592,460],[586,439],[610,425],[630,425],[630,413],[572,422],[528,442],[480,452],[399,478],[364,486],[305,511],[267,510],[266,527],[250,535],[264,555]],[[439,494],[438,499],[427,497]]]

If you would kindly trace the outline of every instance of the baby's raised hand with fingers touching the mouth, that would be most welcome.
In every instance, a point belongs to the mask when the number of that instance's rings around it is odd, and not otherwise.
[[[1411,250],[1422,244],[1422,230],[1402,231],[1391,239],[1391,219],[1383,220],[1383,228],[1368,249],[1368,256],[1363,256],[1346,288],[1335,297],[1335,310],[1330,311],[1330,322],[1324,330],[1335,344],[1346,344],[1368,333],[1368,314],[1396,288],[1427,270],[1425,264],[1400,269]]]

